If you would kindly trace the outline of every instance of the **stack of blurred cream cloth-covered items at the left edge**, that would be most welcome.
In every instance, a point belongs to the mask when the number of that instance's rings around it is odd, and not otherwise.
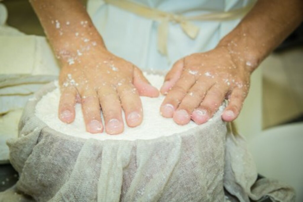
[[[0,3],[0,163],[8,161],[5,141],[17,137],[22,108],[59,68],[45,37],[25,35],[7,26]]]

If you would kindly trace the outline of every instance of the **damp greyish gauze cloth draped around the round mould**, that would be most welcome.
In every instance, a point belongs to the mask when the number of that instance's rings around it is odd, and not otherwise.
[[[20,174],[16,187],[33,200],[212,202],[225,201],[223,187],[240,201],[265,195],[294,200],[291,187],[256,182],[245,141],[227,130],[218,113],[211,122],[151,140],[75,138],[35,116],[38,101],[54,89],[50,83],[35,93],[22,114],[19,138],[8,141]],[[8,194],[0,193],[0,201]]]

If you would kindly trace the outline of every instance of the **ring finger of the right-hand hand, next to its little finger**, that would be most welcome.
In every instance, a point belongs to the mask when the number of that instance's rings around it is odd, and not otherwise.
[[[227,91],[228,86],[226,85],[213,85],[206,93],[200,106],[192,112],[191,118],[197,124],[207,122],[221,106]]]

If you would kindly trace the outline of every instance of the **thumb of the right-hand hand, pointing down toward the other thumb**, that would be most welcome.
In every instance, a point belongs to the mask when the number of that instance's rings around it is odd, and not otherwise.
[[[178,79],[181,77],[183,66],[184,66],[184,58],[175,62],[171,70],[169,70],[169,72],[166,74],[165,82],[163,83],[160,89],[160,92],[163,95],[168,93],[169,89],[171,89],[172,86],[174,86],[175,83],[178,81]]]

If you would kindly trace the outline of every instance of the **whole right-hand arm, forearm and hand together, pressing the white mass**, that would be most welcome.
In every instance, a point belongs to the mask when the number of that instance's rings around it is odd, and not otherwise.
[[[302,8],[300,0],[257,1],[213,50],[178,60],[160,90],[167,94],[162,116],[180,125],[191,119],[202,124],[228,99],[221,117],[235,120],[248,94],[251,73],[301,24]]]

